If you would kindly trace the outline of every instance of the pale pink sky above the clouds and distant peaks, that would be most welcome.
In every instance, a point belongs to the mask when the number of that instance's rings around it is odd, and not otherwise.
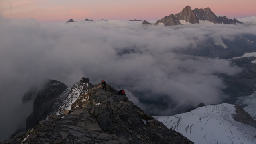
[[[0,0],[7,18],[32,17],[39,22],[73,20],[159,20],[185,6],[211,8],[228,18],[256,16],[256,0]]]

